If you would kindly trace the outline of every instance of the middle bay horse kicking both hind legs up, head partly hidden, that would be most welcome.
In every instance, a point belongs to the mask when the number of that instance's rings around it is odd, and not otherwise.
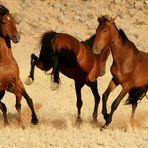
[[[39,58],[35,54],[31,55],[31,70],[28,76],[31,83],[34,80],[35,66],[43,71],[53,68],[54,83],[59,84],[59,72],[74,80],[77,96],[77,119],[81,119],[80,114],[83,104],[81,88],[87,85],[94,95],[93,119],[97,120],[100,101],[97,78],[105,74],[106,60],[110,51],[106,48],[100,55],[93,54],[91,49],[94,38],[95,35],[84,42],[80,42],[66,33],[45,32],[41,39]]]

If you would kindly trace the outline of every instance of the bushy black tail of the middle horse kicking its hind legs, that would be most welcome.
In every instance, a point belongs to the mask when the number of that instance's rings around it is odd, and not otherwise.
[[[48,69],[52,66],[52,57],[53,57],[53,39],[56,35],[54,31],[45,32],[41,38],[41,51],[39,58],[42,62],[48,67]]]

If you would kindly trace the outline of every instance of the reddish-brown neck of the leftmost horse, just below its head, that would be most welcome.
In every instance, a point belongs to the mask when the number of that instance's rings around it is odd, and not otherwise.
[[[0,37],[0,60],[12,58],[10,39]]]

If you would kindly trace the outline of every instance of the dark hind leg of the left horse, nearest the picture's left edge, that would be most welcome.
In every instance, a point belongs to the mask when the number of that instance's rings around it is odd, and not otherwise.
[[[3,96],[5,95],[5,91],[1,91],[0,92],[0,100],[3,98]],[[8,117],[7,117],[7,108],[6,108],[6,105],[0,101],[0,109],[2,110],[3,112],[3,117],[4,117],[4,125],[8,125],[9,122],[8,122]]]

